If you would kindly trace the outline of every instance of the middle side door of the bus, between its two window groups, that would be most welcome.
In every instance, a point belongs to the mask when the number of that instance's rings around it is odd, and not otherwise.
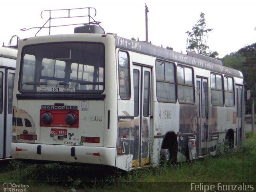
[[[196,153],[197,156],[202,156],[206,152],[208,139],[207,125],[207,79],[196,78],[196,116],[197,116],[197,138],[196,138]]]

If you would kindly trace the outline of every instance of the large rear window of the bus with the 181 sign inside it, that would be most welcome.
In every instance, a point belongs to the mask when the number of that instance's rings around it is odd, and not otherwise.
[[[22,50],[21,93],[101,93],[104,90],[104,45],[51,43]]]

